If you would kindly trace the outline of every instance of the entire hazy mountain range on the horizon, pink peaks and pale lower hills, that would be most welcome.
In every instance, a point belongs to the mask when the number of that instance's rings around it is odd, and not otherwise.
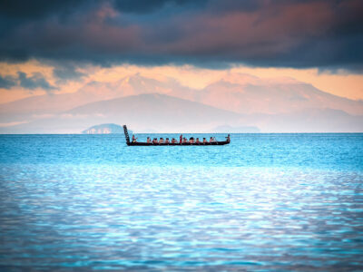
[[[230,74],[201,90],[139,73],[114,83],[87,83],[78,92],[0,105],[0,132],[78,133],[99,123],[139,131],[363,131],[363,102],[322,92],[289,78]]]

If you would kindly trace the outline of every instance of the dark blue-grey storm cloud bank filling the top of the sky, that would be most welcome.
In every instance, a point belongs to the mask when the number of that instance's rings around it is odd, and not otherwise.
[[[0,10],[3,61],[245,63],[357,72],[363,66],[360,0],[103,0],[76,5],[16,0],[3,1]],[[59,78],[65,73],[54,71]]]

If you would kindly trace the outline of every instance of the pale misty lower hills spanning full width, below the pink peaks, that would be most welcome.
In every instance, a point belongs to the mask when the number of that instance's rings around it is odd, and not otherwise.
[[[363,116],[339,110],[305,109],[279,114],[240,114],[152,93],[92,102],[36,121],[11,127],[0,126],[0,133],[79,133],[89,130],[87,128],[94,123],[122,123],[134,131],[175,133],[363,131]]]

